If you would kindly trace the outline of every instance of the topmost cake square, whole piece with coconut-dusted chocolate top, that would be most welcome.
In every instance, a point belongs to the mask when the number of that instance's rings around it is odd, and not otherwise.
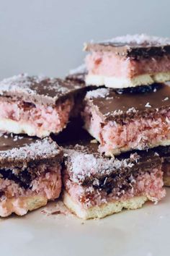
[[[128,88],[170,80],[170,39],[125,35],[86,43],[87,85]]]

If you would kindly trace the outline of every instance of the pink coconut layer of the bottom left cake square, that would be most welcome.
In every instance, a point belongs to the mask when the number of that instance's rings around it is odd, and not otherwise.
[[[54,200],[61,194],[61,164],[53,167],[40,166],[37,177],[32,180],[29,189],[20,187],[19,184],[10,180],[0,178],[1,192],[0,202],[19,197],[42,196],[48,200]]]

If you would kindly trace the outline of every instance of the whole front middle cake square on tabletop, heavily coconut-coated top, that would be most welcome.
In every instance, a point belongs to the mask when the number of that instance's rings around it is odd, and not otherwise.
[[[107,158],[97,150],[97,143],[90,141],[63,148],[63,202],[76,216],[103,218],[165,196],[157,153],[140,151]]]

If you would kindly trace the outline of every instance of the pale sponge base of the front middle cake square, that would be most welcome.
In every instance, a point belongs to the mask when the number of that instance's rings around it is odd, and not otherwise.
[[[65,191],[63,192],[63,202],[71,212],[75,213],[79,218],[87,220],[89,218],[104,218],[113,213],[119,213],[123,208],[135,210],[141,208],[148,200],[146,196],[133,197],[122,202],[108,202],[100,206],[94,206],[89,209],[81,208],[79,204],[74,202],[71,196]]]

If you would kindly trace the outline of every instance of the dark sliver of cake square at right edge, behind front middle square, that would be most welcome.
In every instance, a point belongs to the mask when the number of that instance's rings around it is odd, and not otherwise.
[[[170,146],[155,149],[162,158],[162,171],[164,172],[164,185],[170,187]]]

